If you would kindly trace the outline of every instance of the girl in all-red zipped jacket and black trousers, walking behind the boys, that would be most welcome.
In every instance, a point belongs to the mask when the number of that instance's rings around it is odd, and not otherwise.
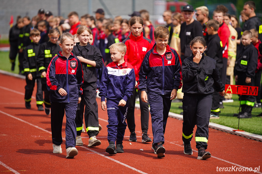
[[[123,41],[123,43],[127,46],[127,52],[125,54],[125,59],[134,67],[136,84],[133,90],[133,95],[129,100],[129,107],[126,116],[126,120],[128,123],[128,129],[130,130],[130,138],[129,141],[137,141],[136,133],[135,133],[135,122],[134,122],[134,108],[135,108],[135,96],[137,91],[138,79],[139,79],[139,70],[142,64],[142,61],[145,57],[147,51],[153,47],[153,43],[150,39],[143,37],[143,27],[144,22],[141,17],[134,16],[130,19],[130,36]],[[142,128],[142,143],[152,141],[151,138],[148,137],[148,103],[141,101],[141,91],[138,90],[139,103],[141,109],[141,128]]]

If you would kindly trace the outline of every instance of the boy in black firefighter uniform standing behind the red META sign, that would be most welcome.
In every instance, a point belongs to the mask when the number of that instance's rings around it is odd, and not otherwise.
[[[255,71],[257,68],[258,51],[256,47],[251,44],[253,38],[249,30],[243,32],[241,42],[240,57],[238,57],[235,64],[235,81],[236,85],[254,86],[255,85]],[[239,97],[240,100],[240,97]],[[251,112],[254,106],[256,96],[243,95],[240,101],[241,112],[240,118],[251,118]]]

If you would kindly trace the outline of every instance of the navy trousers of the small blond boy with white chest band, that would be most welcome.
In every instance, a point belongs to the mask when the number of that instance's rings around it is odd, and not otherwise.
[[[128,101],[125,106],[117,106],[119,101],[107,99],[107,140],[116,141],[116,144],[122,144],[124,133],[127,127],[126,115],[128,110]]]

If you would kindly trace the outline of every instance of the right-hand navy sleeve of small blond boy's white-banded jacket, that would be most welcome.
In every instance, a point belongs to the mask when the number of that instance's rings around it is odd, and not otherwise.
[[[134,68],[129,72],[129,74],[126,76],[126,91],[123,97],[123,100],[127,101],[131,95],[133,95],[133,90],[135,86],[135,73],[134,73]]]

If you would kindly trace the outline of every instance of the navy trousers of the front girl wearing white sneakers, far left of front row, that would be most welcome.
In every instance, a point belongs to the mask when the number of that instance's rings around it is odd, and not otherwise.
[[[52,142],[59,146],[62,144],[62,124],[66,112],[66,148],[76,146],[77,129],[75,124],[77,102],[59,103],[51,102],[51,130]]]

